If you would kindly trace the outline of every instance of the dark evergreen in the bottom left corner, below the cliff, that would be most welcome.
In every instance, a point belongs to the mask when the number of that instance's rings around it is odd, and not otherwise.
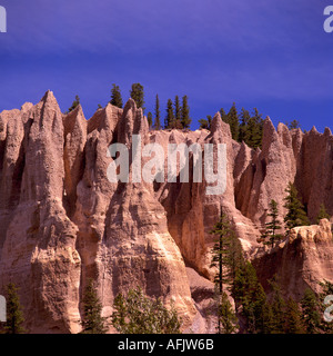
[[[7,322],[4,323],[6,334],[23,334],[26,333],[22,324],[24,317],[20,305],[20,297],[18,288],[14,284],[10,283],[6,288],[6,308],[7,308]]]

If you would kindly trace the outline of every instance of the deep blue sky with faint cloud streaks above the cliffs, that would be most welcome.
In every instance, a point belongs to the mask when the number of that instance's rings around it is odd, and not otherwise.
[[[331,1],[332,2],[332,1]],[[333,33],[323,30],[329,0],[0,0],[0,111],[38,102],[51,89],[63,111],[75,95],[87,118],[110,100],[145,90],[188,95],[198,119],[256,107],[302,128],[333,128]]]

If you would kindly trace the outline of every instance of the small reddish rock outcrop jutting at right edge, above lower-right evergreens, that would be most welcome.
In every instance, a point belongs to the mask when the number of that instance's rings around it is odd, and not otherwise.
[[[332,224],[322,219],[320,225],[293,228],[283,244],[259,254],[254,266],[264,286],[278,275],[284,294],[300,300],[306,288],[320,291],[319,281],[332,281]]]

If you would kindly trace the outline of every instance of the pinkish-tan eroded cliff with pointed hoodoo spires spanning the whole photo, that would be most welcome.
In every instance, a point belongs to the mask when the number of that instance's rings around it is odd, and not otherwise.
[[[214,150],[224,144],[225,191],[206,195],[211,184],[193,181],[192,154],[189,182],[180,177],[168,181],[167,170],[163,181],[135,181],[138,167],[150,158],[135,160],[134,135],[140,135],[141,148],[163,148],[165,167],[169,144],[198,144],[202,150],[206,144]],[[312,220],[322,202],[333,215],[332,142],[329,130],[303,134],[282,123],[275,130],[268,118],[262,150],[254,151],[232,140],[219,113],[211,131],[150,131],[131,99],[123,109],[108,105],[85,120],[80,106],[62,115],[51,91],[36,106],[2,111],[0,294],[9,281],[20,288],[31,333],[78,333],[90,278],[97,281],[104,316],[111,315],[118,293],[141,286],[165,305],[174,301],[183,329],[192,325],[208,332],[212,326],[202,318],[206,306],[198,290],[212,294],[211,284],[200,278],[214,274],[210,230],[221,211],[262,278],[279,271],[294,295],[305,285],[315,288],[317,280],[333,279],[327,221],[294,229],[284,247],[270,255],[262,254],[256,239],[271,199],[278,201],[282,219],[289,181],[295,182]],[[115,159],[108,149],[112,144],[129,149],[128,182],[108,179]]]

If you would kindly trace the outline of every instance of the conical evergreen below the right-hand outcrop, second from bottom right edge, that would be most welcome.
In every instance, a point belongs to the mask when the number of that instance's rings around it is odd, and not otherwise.
[[[321,316],[315,294],[307,288],[301,300],[302,319],[307,334],[316,334],[319,332]]]

